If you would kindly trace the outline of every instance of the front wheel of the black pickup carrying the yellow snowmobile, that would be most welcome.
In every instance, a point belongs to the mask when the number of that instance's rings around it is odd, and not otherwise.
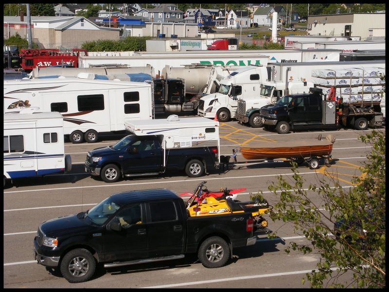
[[[77,248],[67,253],[61,261],[61,274],[69,283],[86,282],[96,270],[96,260],[92,254]]]

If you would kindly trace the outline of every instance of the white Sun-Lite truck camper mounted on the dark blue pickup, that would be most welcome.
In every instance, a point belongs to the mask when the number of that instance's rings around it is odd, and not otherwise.
[[[217,146],[220,163],[220,124],[217,121],[204,117],[178,118],[177,115],[170,115],[167,119],[125,121],[124,126],[137,136],[163,136],[161,146],[164,149],[164,163],[166,150],[199,146]]]

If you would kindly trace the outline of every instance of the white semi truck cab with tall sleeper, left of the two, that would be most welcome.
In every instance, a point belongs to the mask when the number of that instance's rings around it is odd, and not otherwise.
[[[198,115],[228,122],[235,118],[238,99],[258,98],[261,83],[267,79],[267,69],[263,66],[250,65],[238,69],[220,80],[217,93],[200,98]]]

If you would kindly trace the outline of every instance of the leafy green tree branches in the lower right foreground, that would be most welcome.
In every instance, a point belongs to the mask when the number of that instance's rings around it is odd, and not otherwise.
[[[270,218],[292,222],[295,232],[310,242],[291,242],[285,252],[289,253],[290,249],[303,254],[315,251],[320,256],[318,269],[306,274],[312,288],[323,288],[327,280],[332,288],[385,288],[386,285],[385,133],[373,130],[359,139],[371,145],[372,150],[361,167],[364,175],[354,179],[354,187],[349,191],[338,181],[334,180],[332,186],[322,179],[319,186],[310,184],[305,190],[305,181],[295,163],[292,183],[279,176],[278,181],[268,187],[280,198]],[[315,201],[321,202],[320,205],[310,199],[312,195],[308,192],[315,194]],[[334,223],[342,219],[344,224],[335,230]],[[359,222],[360,226],[348,224],[350,222]],[[366,237],[361,240],[363,236]],[[348,271],[353,273],[351,283],[340,282],[339,277]]]

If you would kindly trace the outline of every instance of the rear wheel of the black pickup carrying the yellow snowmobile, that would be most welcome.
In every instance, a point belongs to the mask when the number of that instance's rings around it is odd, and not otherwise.
[[[213,236],[201,243],[197,257],[206,268],[223,267],[230,256],[230,247],[226,240]]]

